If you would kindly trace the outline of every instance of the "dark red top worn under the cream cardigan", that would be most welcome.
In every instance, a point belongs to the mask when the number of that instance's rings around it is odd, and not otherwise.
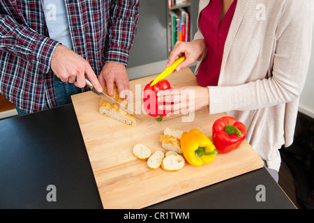
[[[234,15],[237,0],[234,0],[229,10],[219,24],[221,0],[211,0],[200,14],[200,29],[207,45],[207,56],[200,64],[196,79],[200,86],[217,86],[223,61],[223,49]]]

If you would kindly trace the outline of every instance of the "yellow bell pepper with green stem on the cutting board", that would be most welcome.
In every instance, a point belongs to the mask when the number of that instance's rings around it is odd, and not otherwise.
[[[181,136],[180,144],[186,161],[195,167],[209,164],[218,153],[211,139],[197,129],[184,132]]]

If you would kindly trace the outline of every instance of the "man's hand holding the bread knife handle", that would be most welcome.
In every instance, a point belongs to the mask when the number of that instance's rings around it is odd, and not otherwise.
[[[54,51],[51,68],[62,82],[74,83],[75,86],[83,88],[87,77],[98,92],[103,91],[89,62],[61,44]]]

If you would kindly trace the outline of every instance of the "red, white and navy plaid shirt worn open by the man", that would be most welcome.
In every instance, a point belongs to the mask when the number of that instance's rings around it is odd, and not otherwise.
[[[106,62],[127,64],[140,0],[65,0],[73,50],[96,75]],[[0,0],[0,93],[32,113],[56,106],[42,0]],[[85,88],[82,91],[87,91]]]

